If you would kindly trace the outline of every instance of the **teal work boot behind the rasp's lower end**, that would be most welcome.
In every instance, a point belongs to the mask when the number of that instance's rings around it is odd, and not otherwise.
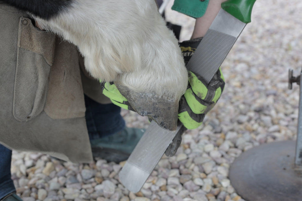
[[[145,130],[125,127],[107,137],[90,140],[93,158],[119,163],[128,159]]]

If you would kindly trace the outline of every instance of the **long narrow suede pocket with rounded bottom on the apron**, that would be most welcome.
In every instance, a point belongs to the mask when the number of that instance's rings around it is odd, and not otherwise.
[[[54,42],[55,34],[37,29],[31,19],[20,18],[13,100],[18,121],[29,121],[43,111]]]

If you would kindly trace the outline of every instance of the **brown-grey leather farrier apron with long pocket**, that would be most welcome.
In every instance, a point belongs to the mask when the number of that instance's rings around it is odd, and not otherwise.
[[[0,1],[0,143],[91,162],[84,93],[108,103],[76,47]]]

